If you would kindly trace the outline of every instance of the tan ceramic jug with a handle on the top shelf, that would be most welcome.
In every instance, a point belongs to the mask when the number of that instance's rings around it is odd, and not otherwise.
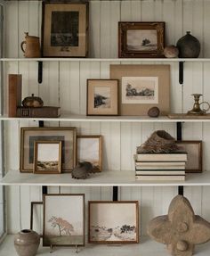
[[[21,50],[26,58],[39,58],[41,56],[39,37],[28,36],[25,32],[25,41],[21,42]],[[23,45],[24,48],[23,48]]]

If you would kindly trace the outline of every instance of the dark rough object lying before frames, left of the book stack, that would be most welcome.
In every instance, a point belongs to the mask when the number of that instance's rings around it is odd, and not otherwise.
[[[85,179],[93,173],[93,164],[89,161],[79,162],[77,166],[72,170],[71,177],[77,179]]]

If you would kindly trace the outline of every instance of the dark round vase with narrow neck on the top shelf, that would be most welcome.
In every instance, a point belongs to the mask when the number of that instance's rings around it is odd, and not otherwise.
[[[179,49],[180,58],[198,58],[200,53],[200,43],[196,37],[190,35],[190,31],[181,37],[176,46]]]

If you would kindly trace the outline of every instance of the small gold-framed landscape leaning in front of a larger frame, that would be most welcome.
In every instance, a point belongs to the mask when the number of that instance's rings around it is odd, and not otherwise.
[[[61,141],[35,141],[34,173],[61,173]]]

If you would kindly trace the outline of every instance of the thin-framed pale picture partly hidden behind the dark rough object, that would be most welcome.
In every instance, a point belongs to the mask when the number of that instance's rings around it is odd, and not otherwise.
[[[94,171],[102,170],[102,136],[77,136],[77,162],[90,161]]]

